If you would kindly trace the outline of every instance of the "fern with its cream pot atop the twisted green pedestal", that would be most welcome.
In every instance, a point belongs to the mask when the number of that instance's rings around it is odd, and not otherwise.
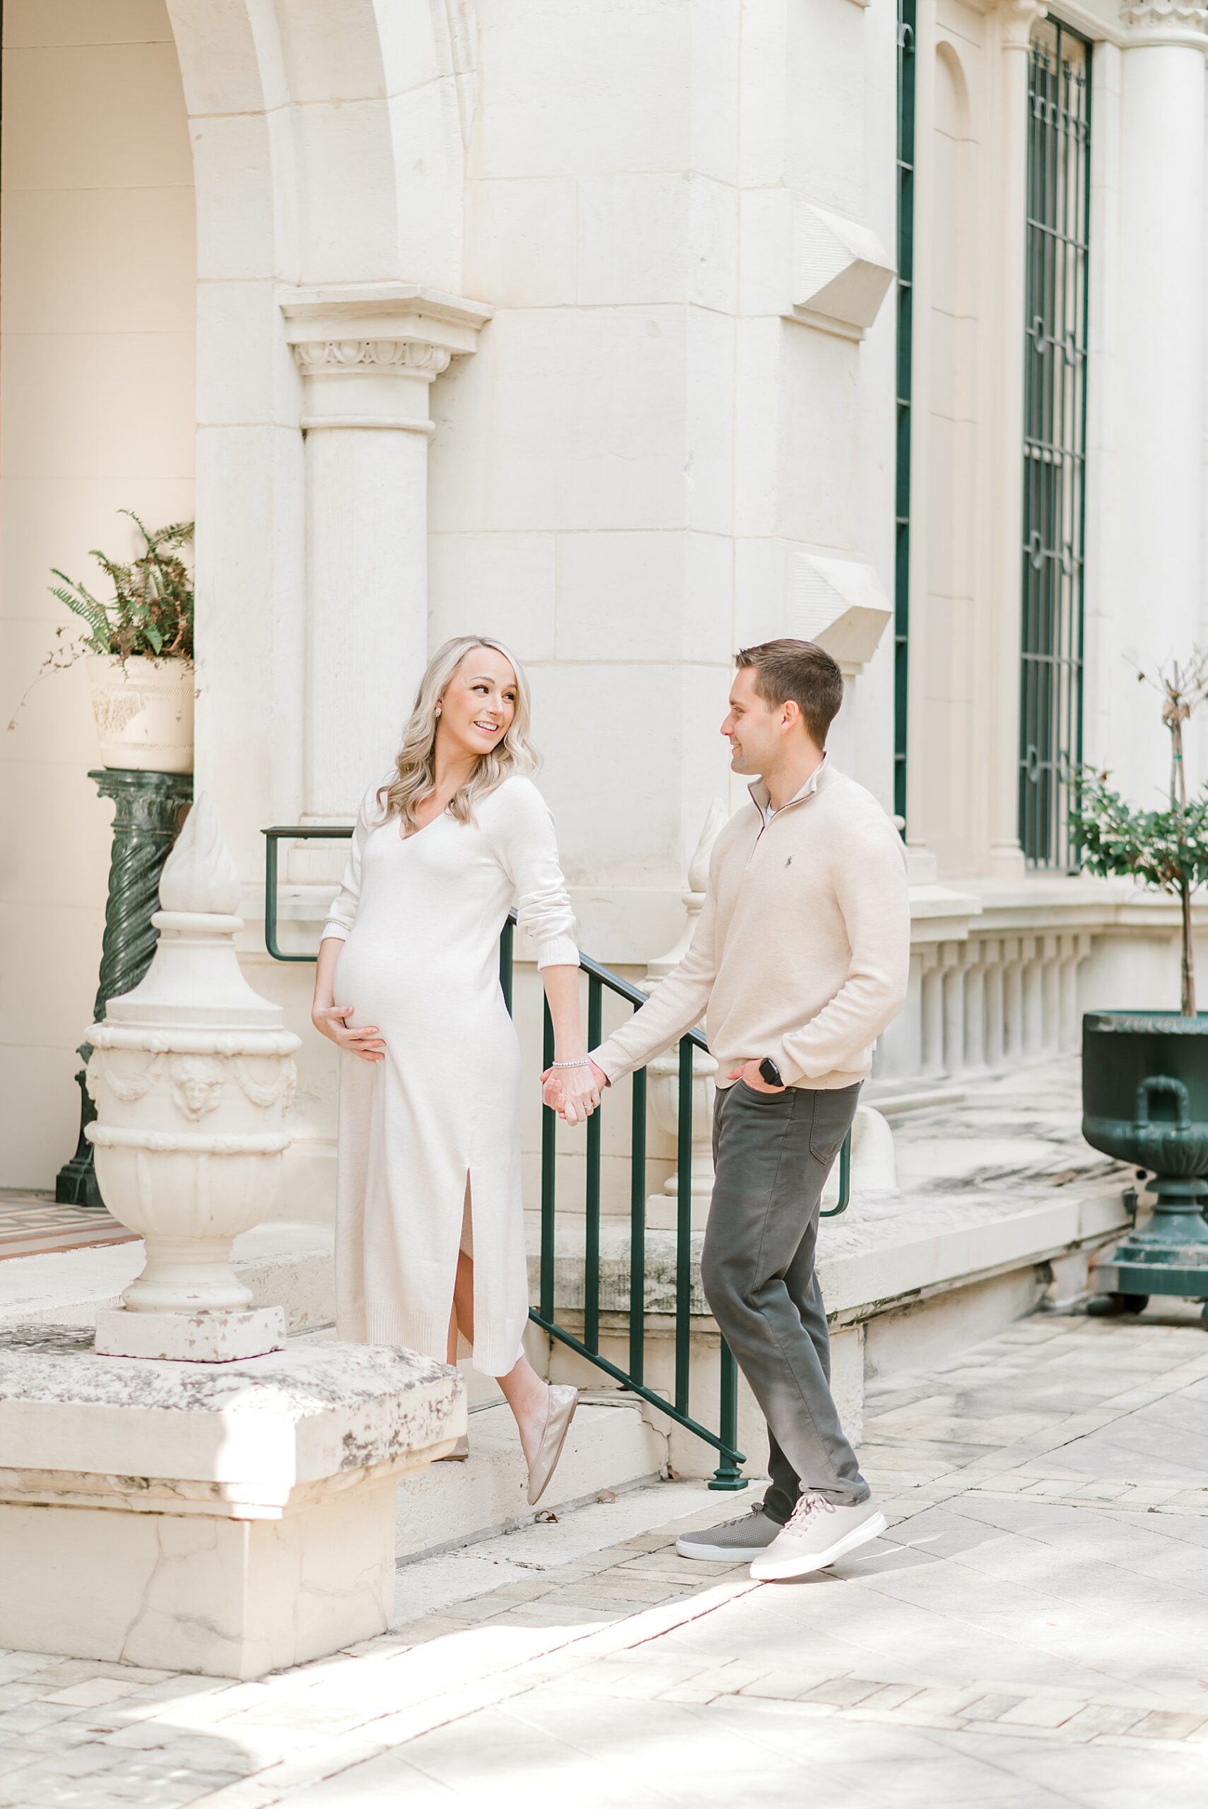
[[[112,584],[109,601],[54,570],[61,582],[51,593],[89,633],[60,646],[47,666],[61,669],[85,658],[101,765],[192,772],[193,581],[181,548],[192,541],[193,523],[172,521],[148,532],[132,508],[121,514],[143,535],[143,550],[128,564],[92,550]],[[60,640],[63,633],[60,628]]]

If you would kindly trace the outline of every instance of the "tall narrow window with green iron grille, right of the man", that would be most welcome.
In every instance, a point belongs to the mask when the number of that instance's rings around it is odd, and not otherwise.
[[[1020,845],[1029,868],[1076,872],[1081,763],[1090,43],[1060,20],[1027,63]]]

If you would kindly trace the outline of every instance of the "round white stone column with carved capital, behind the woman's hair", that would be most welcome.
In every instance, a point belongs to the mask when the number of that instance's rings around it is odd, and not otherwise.
[[[427,660],[429,391],[490,309],[409,286],[289,291],[304,382],[304,819],[347,818]]]

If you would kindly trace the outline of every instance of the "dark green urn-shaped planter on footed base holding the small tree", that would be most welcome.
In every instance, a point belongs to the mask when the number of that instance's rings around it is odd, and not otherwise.
[[[1098,1264],[1092,1313],[1141,1312],[1154,1293],[1208,1301],[1208,1013],[1089,1011],[1081,1132],[1148,1170],[1154,1216]],[[1208,1326],[1208,1306],[1203,1312]]]

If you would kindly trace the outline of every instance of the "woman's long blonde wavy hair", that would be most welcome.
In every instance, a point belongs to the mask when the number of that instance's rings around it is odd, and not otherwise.
[[[479,798],[488,798],[514,772],[535,772],[541,763],[537,749],[528,740],[532,720],[532,693],[524,669],[501,640],[490,635],[454,635],[443,648],[438,648],[429,660],[429,669],[420,680],[416,706],[411,722],[403,729],[403,745],[394,760],[394,778],[378,787],[378,809],[383,821],[401,816],[416,829],[416,805],[432,796],[436,787],[436,706],[445,695],[448,680],[454,677],[467,653],[476,648],[494,648],[503,653],[515,673],[515,715],[501,742],[483,754],[470,778],[448,800],[448,810],[459,823],[468,823]]]

